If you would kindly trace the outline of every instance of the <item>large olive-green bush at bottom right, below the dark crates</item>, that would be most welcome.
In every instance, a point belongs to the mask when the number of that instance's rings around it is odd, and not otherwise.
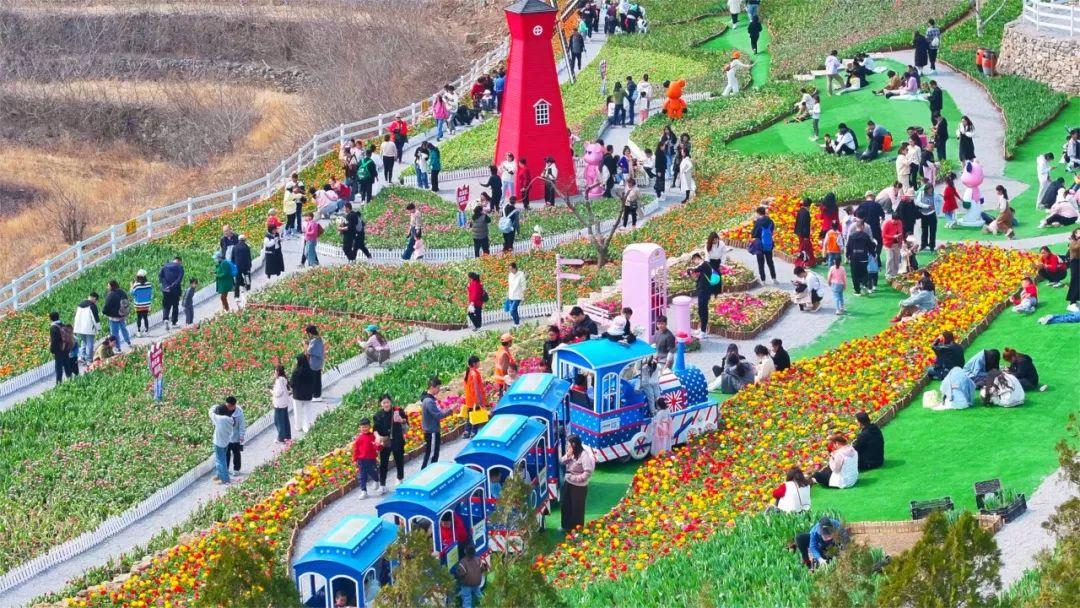
[[[971,513],[954,523],[934,513],[922,538],[886,568],[883,606],[991,607],[1001,587],[1001,553]]]

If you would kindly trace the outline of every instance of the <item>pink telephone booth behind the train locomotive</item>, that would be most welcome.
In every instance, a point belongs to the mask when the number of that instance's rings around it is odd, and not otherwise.
[[[654,243],[635,243],[622,252],[622,306],[634,311],[631,323],[652,339],[657,317],[667,314],[667,256]]]

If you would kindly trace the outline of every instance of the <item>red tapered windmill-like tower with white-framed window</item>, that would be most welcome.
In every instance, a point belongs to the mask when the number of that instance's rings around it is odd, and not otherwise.
[[[556,11],[540,0],[519,0],[505,10],[511,44],[495,164],[512,152],[515,159],[526,159],[529,173],[536,178],[543,170],[544,159],[553,157],[558,170],[558,190],[577,194],[563,92],[551,46]],[[519,189],[522,185],[516,187]],[[542,181],[534,179],[528,198],[543,198]]]

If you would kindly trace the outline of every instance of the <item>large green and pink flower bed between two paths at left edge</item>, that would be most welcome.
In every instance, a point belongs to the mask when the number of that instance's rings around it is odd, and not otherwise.
[[[242,310],[164,341],[161,402],[136,350],[0,413],[0,428],[21,430],[4,433],[0,452],[0,570],[94,529],[204,460],[210,404],[233,394],[248,423],[266,414],[274,365],[292,369],[309,323],[323,330],[329,365],[360,352],[364,322]]]

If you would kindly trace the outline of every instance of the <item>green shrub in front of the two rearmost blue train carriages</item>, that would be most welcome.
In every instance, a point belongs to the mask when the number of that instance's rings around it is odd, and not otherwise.
[[[457,591],[454,578],[431,552],[431,532],[415,528],[399,533],[387,548],[387,558],[397,564],[391,584],[379,590],[374,608],[403,606],[444,608]]]

